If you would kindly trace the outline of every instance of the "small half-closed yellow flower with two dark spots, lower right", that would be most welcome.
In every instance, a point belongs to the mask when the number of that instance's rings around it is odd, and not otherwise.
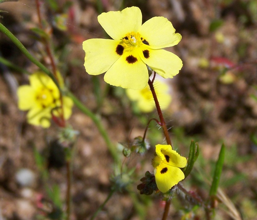
[[[157,144],[155,147],[157,156],[152,160],[155,181],[161,192],[167,192],[185,178],[180,168],[186,166],[186,158],[172,150],[170,145]]]

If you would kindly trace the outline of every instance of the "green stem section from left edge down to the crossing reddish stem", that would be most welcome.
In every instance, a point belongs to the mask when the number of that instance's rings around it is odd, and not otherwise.
[[[56,84],[56,86],[60,89],[60,85],[57,82],[56,78],[54,75],[51,73],[45,65],[40,63],[34,56],[32,56],[29,51],[24,47],[24,45],[2,24],[0,23],[0,30],[6,34],[6,36],[13,41],[13,43],[21,50],[21,52],[35,65],[37,65],[42,71],[44,71]]]

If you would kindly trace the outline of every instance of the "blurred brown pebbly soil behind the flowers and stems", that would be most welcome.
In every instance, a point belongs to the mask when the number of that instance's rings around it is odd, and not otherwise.
[[[257,102],[252,97],[257,96],[254,87],[257,86],[256,1],[76,0],[68,5],[68,1],[60,0],[54,1],[56,10],[49,7],[50,2],[41,1],[40,10],[52,30],[57,66],[71,92],[101,117],[110,139],[118,146],[122,161],[122,148],[117,143],[128,144],[135,137],[143,136],[145,121],[158,115],[135,113],[122,89],[106,85],[103,74],[97,78],[104,98],[97,104],[93,86],[96,79],[88,75],[83,66],[82,42],[108,37],[97,22],[101,11],[138,6],[143,23],[154,16],[164,16],[172,22],[182,40],[167,50],[183,60],[180,73],[167,80],[172,102],[165,111],[165,119],[173,143],[187,156],[191,139],[198,141],[201,153],[196,169],[208,182],[224,142],[227,156],[221,188],[242,219],[257,219]],[[50,68],[44,44],[31,30],[38,27],[35,1],[6,2],[0,4],[0,8],[8,11],[1,13],[1,23]],[[56,24],[55,18],[61,14],[67,15],[66,30]],[[29,73],[37,70],[3,33],[0,34],[0,56]],[[29,125],[26,112],[18,110],[16,96],[17,86],[27,84],[28,76],[3,64],[0,69],[0,220],[39,219],[39,214],[44,217],[41,219],[55,219],[46,217],[55,207],[45,185],[59,186],[61,199],[65,200],[66,167],[63,149],[56,140],[57,126],[53,123],[49,129],[43,129]],[[72,167],[71,219],[90,219],[111,191],[113,159],[91,118],[73,107],[68,122],[80,132]],[[136,189],[144,173],[153,172],[154,140],[164,143],[156,126],[150,130],[156,130],[151,133],[156,134],[156,138],[149,137],[149,151],[144,156],[133,155],[126,160],[130,168],[136,168],[131,185],[133,193],[114,193],[96,219],[140,219],[134,197],[146,207],[145,219],[161,219],[164,209],[161,195],[140,196]],[[35,149],[47,159],[47,183],[36,166]],[[202,189],[197,180],[197,174],[192,174],[183,184],[206,197],[208,191]],[[185,213],[191,213],[186,207],[178,211],[177,200],[174,201],[169,219],[181,219]],[[232,219],[222,204],[217,210],[215,219]],[[204,219],[201,212],[187,217],[184,219]]]

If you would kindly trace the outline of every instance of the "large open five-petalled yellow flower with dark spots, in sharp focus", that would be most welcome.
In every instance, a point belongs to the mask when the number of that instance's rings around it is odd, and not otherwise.
[[[164,78],[172,78],[182,67],[181,59],[162,48],[177,45],[181,35],[170,21],[154,17],[142,25],[139,8],[125,8],[98,16],[98,22],[112,39],[88,39],[84,66],[90,75],[104,72],[114,86],[143,89],[148,82],[147,66]]]

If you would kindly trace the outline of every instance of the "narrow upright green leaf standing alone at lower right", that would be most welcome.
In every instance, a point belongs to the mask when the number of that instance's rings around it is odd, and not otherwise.
[[[215,166],[215,171],[214,171],[213,180],[212,180],[212,186],[210,189],[210,196],[215,196],[217,193],[218,186],[219,186],[219,179],[220,179],[222,168],[223,168],[224,158],[225,158],[225,145],[222,144],[220,152],[219,152],[219,158],[218,158],[216,166]]]

